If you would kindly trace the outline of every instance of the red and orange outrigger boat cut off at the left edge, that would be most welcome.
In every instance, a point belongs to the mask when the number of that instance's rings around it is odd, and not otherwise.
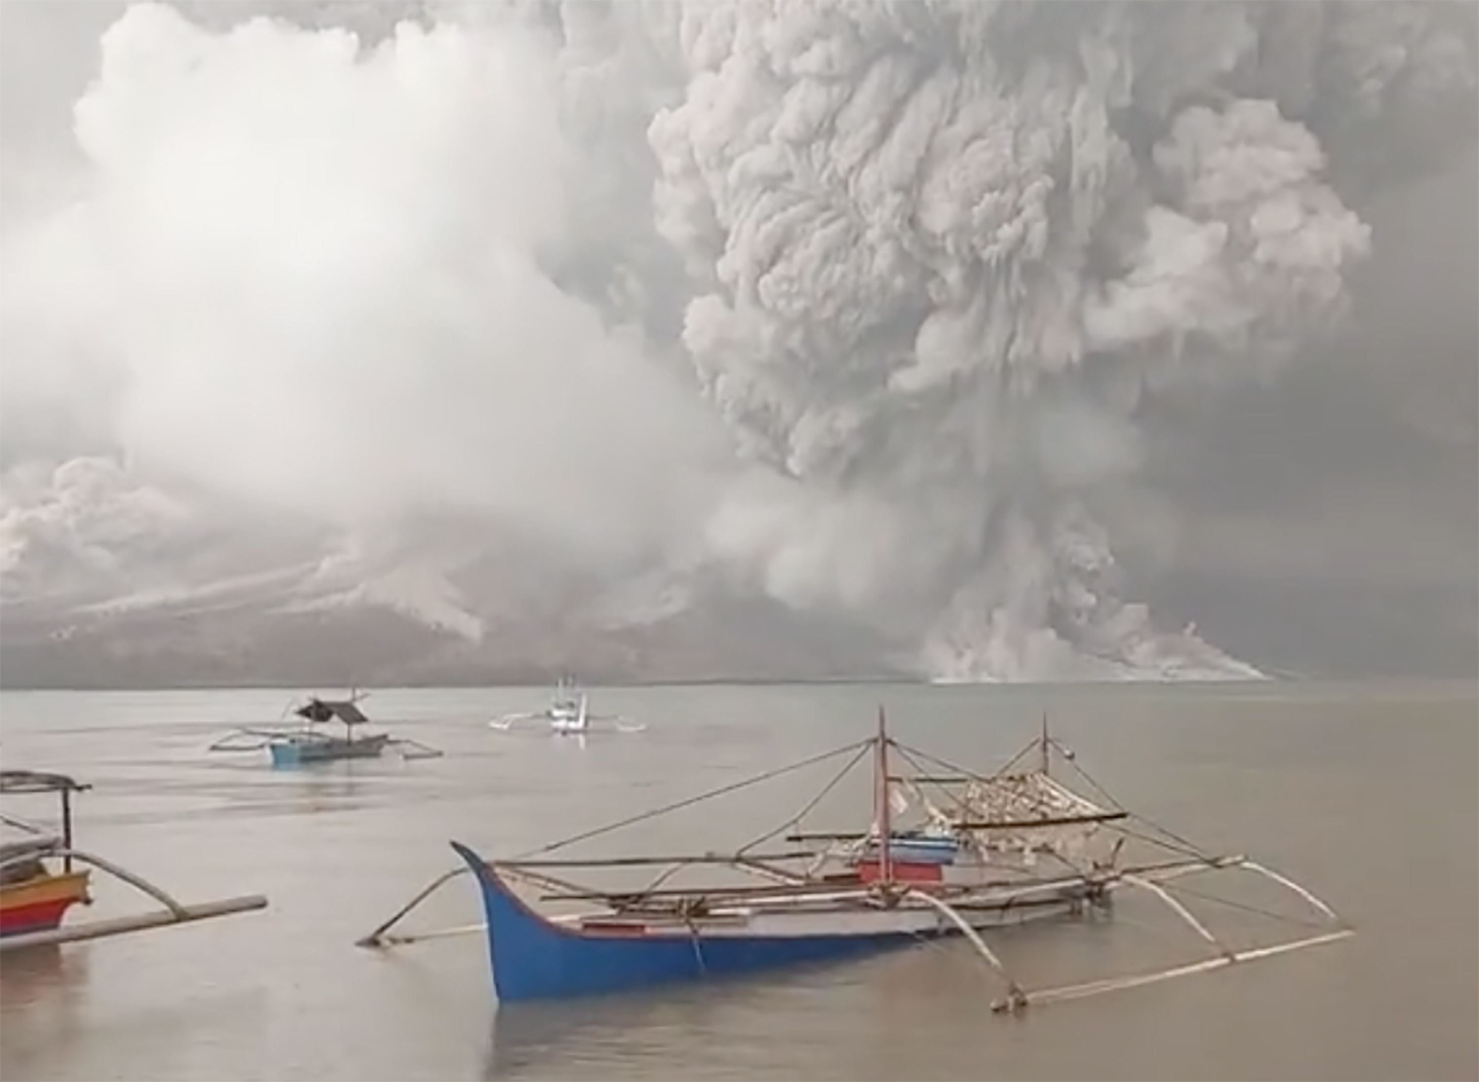
[[[7,826],[28,835],[21,841],[0,845],[0,952],[104,939],[266,908],[268,900],[262,894],[186,906],[143,877],[93,853],[75,848],[72,845],[71,798],[72,794],[86,792],[89,788],[92,786],[67,775],[0,770],[0,794],[55,792],[61,797],[62,806],[61,837],[47,835],[21,819],[0,816]],[[106,872],[148,894],[163,908],[135,916],[118,916],[62,928],[62,919],[74,905],[92,903],[89,894],[92,874],[78,869],[77,865],[90,865]]]

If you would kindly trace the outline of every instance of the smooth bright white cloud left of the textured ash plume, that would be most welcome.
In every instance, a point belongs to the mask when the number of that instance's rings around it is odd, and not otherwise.
[[[6,427],[80,405],[142,473],[340,523],[658,542],[713,442],[543,269],[578,241],[555,75],[516,27],[362,49],[130,7],[75,108],[87,198],[6,237]]]

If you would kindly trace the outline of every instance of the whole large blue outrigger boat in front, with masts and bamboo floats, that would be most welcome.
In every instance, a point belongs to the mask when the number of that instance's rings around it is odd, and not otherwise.
[[[1035,769],[1018,769],[1037,752]],[[485,860],[453,843],[464,866],[445,872],[390,919],[359,940],[387,947],[441,936],[485,931],[500,1001],[615,992],[676,980],[778,968],[805,961],[858,956],[892,946],[963,936],[997,974],[1004,993],[995,1011],[1074,999],[1189,976],[1352,936],[1324,902],[1303,887],[1239,854],[1211,854],[1120,807],[1092,801],[1052,773],[1055,754],[1097,789],[1074,754],[1047,730],[994,775],[978,775],[877,735],[711,792],[550,843],[506,860]],[[914,773],[893,773],[893,758]],[[822,761],[846,758],[842,770],[799,813],[728,854],[552,857],[578,841],[677,812]],[[802,831],[821,800],[865,758],[873,763],[873,820],[867,829]],[[944,769],[945,775],[930,773]],[[932,794],[938,794],[932,798]],[[896,817],[914,812],[916,823]],[[1146,834],[1143,829],[1151,831]],[[791,848],[760,851],[784,835]],[[1127,843],[1158,853],[1128,860]],[[566,869],[661,868],[639,890],[602,890],[562,878]],[[762,882],[666,887],[695,868],[728,868]],[[1318,934],[1272,946],[1233,949],[1171,891],[1174,881],[1242,869],[1294,891],[1328,922]],[[485,921],[442,931],[395,936],[427,896],[470,872]],[[598,905],[595,912],[547,916],[513,884],[543,890],[544,902]],[[1108,911],[1111,896],[1134,887],[1164,902],[1214,952],[1208,958],[1146,974],[1026,990],[1007,973],[982,931],[1044,918]]]

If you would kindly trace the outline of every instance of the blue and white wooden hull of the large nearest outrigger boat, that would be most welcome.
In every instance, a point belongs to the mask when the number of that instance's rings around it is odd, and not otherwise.
[[[856,958],[921,939],[958,934],[927,906],[868,909],[856,890],[819,896],[802,911],[728,918],[611,918],[568,924],[529,909],[503,877],[472,850],[453,843],[482,891],[493,983],[500,1001],[556,999],[685,980],[705,980],[803,962]],[[1013,905],[963,908],[973,927],[1060,916],[1081,903],[1075,887],[1046,890]]]

